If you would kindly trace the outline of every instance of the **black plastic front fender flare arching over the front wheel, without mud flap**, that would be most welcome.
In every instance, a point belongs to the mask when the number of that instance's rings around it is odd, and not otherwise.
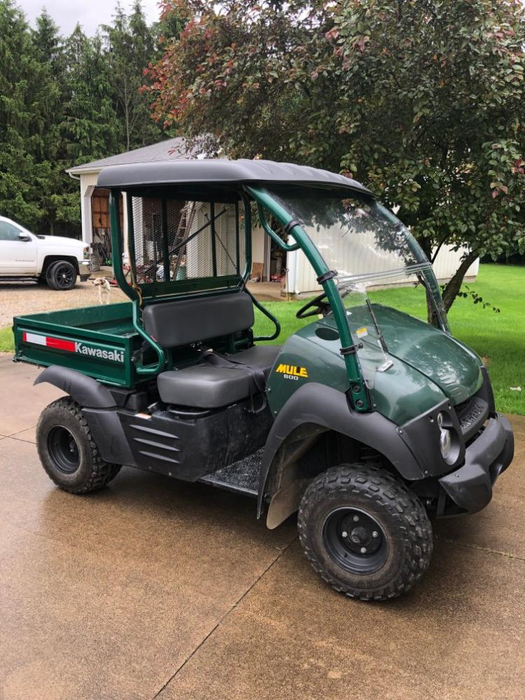
[[[404,479],[423,478],[412,451],[396,432],[395,423],[377,412],[354,412],[342,391],[312,381],[295,391],[269,432],[260,469],[258,517],[262,514],[269,475],[279,447],[288,435],[307,423],[335,430],[372,447],[383,454]]]

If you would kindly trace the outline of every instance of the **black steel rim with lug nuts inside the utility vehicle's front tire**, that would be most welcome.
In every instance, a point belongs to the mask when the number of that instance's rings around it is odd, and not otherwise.
[[[358,508],[332,510],[323,523],[323,542],[330,558],[349,573],[374,573],[388,559],[383,529]]]

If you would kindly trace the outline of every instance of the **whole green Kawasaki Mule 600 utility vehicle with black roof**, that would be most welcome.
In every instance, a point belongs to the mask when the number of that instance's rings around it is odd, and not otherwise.
[[[298,511],[304,552],[338,591],[408,591],[430,518],[487,505],[514,449],[409,231],[359,183],[297,165],[120,165],[98,184],[131,303],[15,318],[15,360],[46,365],[36,383],[67,394],[38,421],[50,478],[89,493],[129,465],[254,496],[269,528]],[[302,256],[323,290],[281,345],[262,344],[279,321],[246,288],[253,232]],[[432,324],[367,297],[411,283]]]

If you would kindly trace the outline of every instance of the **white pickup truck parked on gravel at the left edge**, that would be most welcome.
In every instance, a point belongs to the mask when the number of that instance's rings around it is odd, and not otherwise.
[[[89,257],[83,241],[36,236],[0,216],[0,279],[35,279],[52,289],[68,290],[75,286],[77,275],[82,282],[90,276]]]

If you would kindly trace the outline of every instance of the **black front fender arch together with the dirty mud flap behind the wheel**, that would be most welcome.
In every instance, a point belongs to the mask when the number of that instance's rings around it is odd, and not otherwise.
[[[377,450],[403,479],[423,478],[416,458],[398,435],[395,423],[377,412],[356,413],[342,391],[309,382],[297,389],[281,409],[262,456],[257,516],[261,517],[269,497],[269,528],[278,526],[297,510],[308,483],[308,479],[297,472],[297,460],[327,430]],[[292,472],[291,478],[274,478],[277,472],[287,471]]]

